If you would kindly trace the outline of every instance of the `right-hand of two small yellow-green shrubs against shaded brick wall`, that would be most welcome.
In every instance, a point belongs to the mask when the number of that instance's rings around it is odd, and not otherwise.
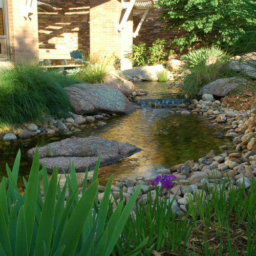
[[[165,39],[160,40],[159,38],[153,42],[152,47],[148,47],[148,64],[165,64],[164,57],[167,53],[164,52],[164,46],[166,45]]]

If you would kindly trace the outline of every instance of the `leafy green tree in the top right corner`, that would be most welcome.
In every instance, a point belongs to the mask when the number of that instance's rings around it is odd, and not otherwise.
[[[232,52],[255,50],[255,0],[158,0],[162,20],[170,30],[183,30],[173,44],[182,51],[198,42],[219,45]]]

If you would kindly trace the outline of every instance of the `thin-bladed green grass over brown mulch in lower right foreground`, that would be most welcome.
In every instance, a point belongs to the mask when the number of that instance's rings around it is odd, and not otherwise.
[[[226,190],[229,186],[229,190]],[[113,255],[125,255],[140,245],[148,244],[140,255],[255,255],[256,183],[238,189],[229,181],[215,183],[207,196],[194,193],[188,197],[188,211],[177,216],[173,199],[161,198],[161,191],[148,193],[147,202],[137,205],[128,219]]]

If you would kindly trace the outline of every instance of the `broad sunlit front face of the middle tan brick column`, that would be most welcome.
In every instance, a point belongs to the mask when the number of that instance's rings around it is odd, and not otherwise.
[[[90,54],[121,59],[121,0],[90,0]]]

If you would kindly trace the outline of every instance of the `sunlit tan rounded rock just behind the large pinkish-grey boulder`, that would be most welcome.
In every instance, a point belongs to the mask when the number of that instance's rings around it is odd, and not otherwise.
[[[120,91],[125,97],[132,94],[134,90],[134,84],[122,78],[117,72],[111,72],[106,75],[104,84]]]

